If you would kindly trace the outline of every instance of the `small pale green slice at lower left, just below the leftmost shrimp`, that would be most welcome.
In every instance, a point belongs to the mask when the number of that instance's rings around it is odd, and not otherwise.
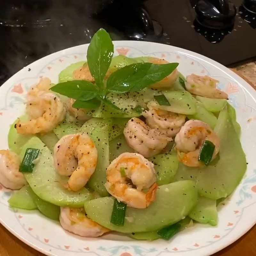
[[[24,187],[20,188],[20,190],[18,190],[16,193],[14,193],[8,200],[10,206],[26,210],[37,209],[34,200],[29,194],[29,189],[30,187],[28,185],[25,185]]]

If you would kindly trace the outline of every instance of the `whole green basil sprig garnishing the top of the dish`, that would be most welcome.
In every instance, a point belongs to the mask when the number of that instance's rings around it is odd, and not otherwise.
[[[74,108],[95,109],[101,105],[122,111],[106,98],[109,92],[125,93],[140,91],[161,81],[177,68],[179,63],[152,64],[135,63],[113,72],[103,83],[114,54],[109,34],[100,28],[92,37],[87,50],[87,64],[95,84],[85,80],[73,80],[56,84],[53,92],[75,99]]]

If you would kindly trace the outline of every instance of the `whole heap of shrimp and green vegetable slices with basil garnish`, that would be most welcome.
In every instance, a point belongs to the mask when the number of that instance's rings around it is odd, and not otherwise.
[[[30,88],[0,150],[0,182],[19,189],[10,206],[86,237],[168,240],[193,221],[217,225],[217,202],[246,170],[228,94],[179,63],[113,53],[100,29],[87,61]]]

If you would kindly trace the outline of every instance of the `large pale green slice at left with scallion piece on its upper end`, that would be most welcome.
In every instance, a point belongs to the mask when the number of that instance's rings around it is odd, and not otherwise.
[[[27,148],[38,148],[38,163],[33,167],[32,173],[24,173],[29,186],[44,201],[59,206],[81,207],[86,200],[90,200],[92,195],[86,188],[82,188],[77,192],[69,191],[64,188],[67,184],[68,177],[60,176],[53,166],[52,152],[37,137],[32,137],[22,147],[20,159]]]

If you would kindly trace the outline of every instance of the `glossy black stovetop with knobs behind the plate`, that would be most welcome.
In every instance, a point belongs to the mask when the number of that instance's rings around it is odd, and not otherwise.
[[[0,85],[35,60],[89,43],[101,27],[113,40],[174,45],[224,65],[255,57],[256,0],[232,2],[0,0]]]

